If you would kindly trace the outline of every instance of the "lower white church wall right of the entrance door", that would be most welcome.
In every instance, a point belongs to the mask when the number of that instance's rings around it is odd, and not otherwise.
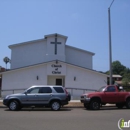
[[[67,88],[98,90],[100,87],[107,85],[107,75],[95,71],[67,65],[66,73],[65,87]],[[74,77],[76,77],[76,80],[74,80]],[[90,92],[76,89],[68,89],[68,91],[71,93],[72,99],[80,99],[83,93]]]

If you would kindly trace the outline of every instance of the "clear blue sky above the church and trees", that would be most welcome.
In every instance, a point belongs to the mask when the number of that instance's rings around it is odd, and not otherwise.
[[[108,7],[112,0],[0,0],[0,66],[8,45],[59,33],[67,45],[95,53],[93,69],[109,70]],[[111,7],[112,60],[130,68],[130,0]],[[85,58],[85,57],[84,57]],[[9,65],[8,65],[9,67]]]

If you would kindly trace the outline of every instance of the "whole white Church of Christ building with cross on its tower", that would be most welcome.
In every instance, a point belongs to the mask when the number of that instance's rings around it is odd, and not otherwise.
[[[106,85],[107,75],[93,70],[94,53],[66,45],[67,38],[50,34],[10,45],[11,68],[1,73],[2,90],[62,85],[73,97],[78,97],[85,89]],[[2,91],[2,95],[6,94],[7,91]]]

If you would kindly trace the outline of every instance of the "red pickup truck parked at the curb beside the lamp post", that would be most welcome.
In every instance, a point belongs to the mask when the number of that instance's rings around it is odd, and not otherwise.
[[[98,91],[83,94],[80,98],[86,109],[98,110],[106,103],[116,104],[118,108],[126,106],[130,109],[130,92],[125,92],[123,87],[108,85]]]

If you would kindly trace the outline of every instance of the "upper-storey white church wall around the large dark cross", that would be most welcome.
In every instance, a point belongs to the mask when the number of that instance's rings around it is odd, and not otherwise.
[[[55,35],[19,44],[10,45],[11,69],[35,65],[52,60],[60,60],[82,66],[93,68],[92,56],[94,53],[71,47],[66,44],[66,37],[57,36],[57,54],[55,54]]]

